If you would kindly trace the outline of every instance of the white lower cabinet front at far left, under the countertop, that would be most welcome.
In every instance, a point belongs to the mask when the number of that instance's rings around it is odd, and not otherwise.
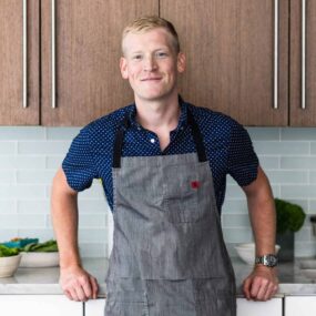
[[[0,295],[3,316],[82,316],[83,304],[62,295]]]

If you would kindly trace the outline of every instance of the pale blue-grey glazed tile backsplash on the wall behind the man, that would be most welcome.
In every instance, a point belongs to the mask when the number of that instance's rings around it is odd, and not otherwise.
[[[0,126],[0,241],[14,236],[53,237],[50,220],[52,177],[79,128]],[[307,213],[295,235],[295,255],[316,255],[308,215],[316,214],[316,129],[248,128],[275,196]],[[99,181],[79,195],[82,256],[108,254],[111,215]],[[110,216],[109,216],[110,215]],[[253,239],[242,190],[228,177],[222,223],[230,253]]]

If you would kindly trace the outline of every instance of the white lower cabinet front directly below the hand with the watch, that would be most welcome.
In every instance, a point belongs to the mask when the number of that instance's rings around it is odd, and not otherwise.
[[[237,316],[282,316],[282,298],[267,302],[253,302],[237,298]]]

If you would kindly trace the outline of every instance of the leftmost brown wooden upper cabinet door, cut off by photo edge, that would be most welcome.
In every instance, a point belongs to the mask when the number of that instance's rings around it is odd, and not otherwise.
[[[1,125],[39,124],[39,1],[26,3],[0,1]]]

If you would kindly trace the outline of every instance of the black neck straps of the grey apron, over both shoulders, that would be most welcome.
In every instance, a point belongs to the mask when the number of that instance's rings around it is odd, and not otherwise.
[[[198,156],[198,162],[207,161],[205,147],[203,144],[203,136],[201,134],[200,128],[196,124],[192,112],[187,109],[187,124],[191,126],[192,136],[196,146],[196,152]],[[114,150],[113,150],[113,167],[121,167],[121,156],[122,147],[124,141],[124,133],[129,129],[129,115],[122,120],[114,139]]]

